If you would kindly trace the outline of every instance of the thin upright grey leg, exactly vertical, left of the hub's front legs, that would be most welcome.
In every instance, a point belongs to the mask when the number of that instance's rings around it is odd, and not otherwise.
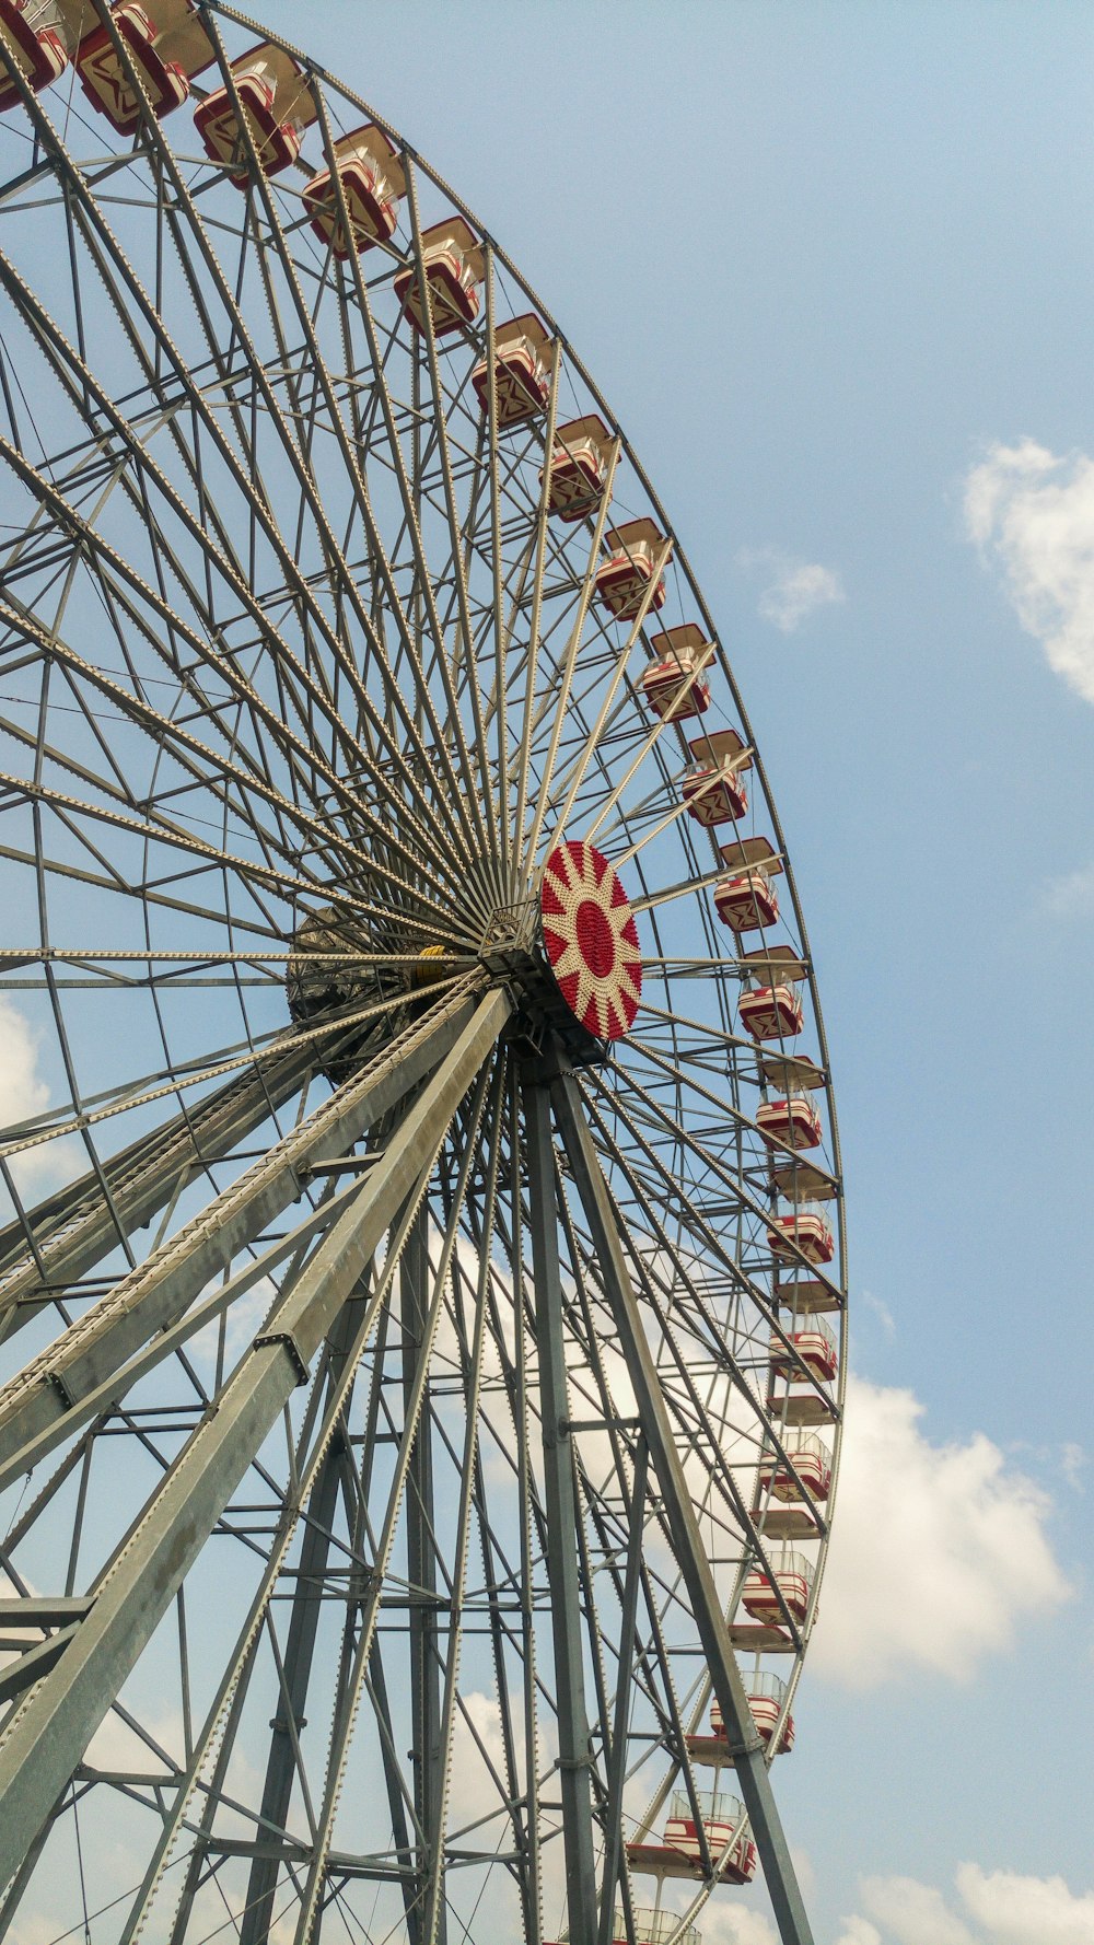
[[[422,1356],[422,1330],[430,1301],[426,1216],[420,1212],[407,1235],[399,1266],[399,1311],[403,1325],[403,1402],[411,1410]],[[419,1844],[419,1896],[407,1910],[411,1945],[420,1945],[420,1887],[428,1883],[434,1846],[440,1836],[442,1749],[440,1749],[440,1661],[436,1644],[436,1548],[432,1505],[432,1420],[426,1393],[407,1480],[407,1579],[411,1583],[411,1719],[415,1764],[415,1811],[424,1848]],[[436,1945],[446,1939],[444,1898],[438,1900]]]

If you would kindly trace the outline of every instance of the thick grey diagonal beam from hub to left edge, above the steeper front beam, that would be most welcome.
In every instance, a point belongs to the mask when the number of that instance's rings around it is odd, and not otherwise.
[[[255,1235],[300,1196],[302,1169],[335,1159],[397,1107],[454,1044],[471,1013],[467,988],[407,1029],[222,1196],[119,1278],[64,1336],[0,1391],[0,1490],[25,1470],[23,1451],[60,1443],[88,1416],[80,1400],[105,1385],[156,1330],[183,1315]]]

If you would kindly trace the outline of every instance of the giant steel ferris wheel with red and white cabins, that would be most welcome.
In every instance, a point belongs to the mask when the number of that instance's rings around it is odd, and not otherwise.
[[[800,1945],[839,1148],[683,548],[261,25],[0,109],[0,1935]]]

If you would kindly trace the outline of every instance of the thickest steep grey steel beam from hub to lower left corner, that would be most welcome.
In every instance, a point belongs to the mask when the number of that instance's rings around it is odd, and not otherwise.
[[[346,1214],[226,1383],[95,1587],[58,1665],[0,1733],[0,1883],[19,1867],[239,1480],[366,1272],[383,1231],[432,1169],[512,1002],[491,990],[422,1087]],[[376,1305],[380,1311],[380,1305]]]

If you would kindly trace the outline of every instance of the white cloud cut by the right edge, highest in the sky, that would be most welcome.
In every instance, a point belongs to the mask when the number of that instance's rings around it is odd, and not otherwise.
[[[966,477],[964,512],[1026,634],[1094,702],[1094,459],[1036,440],[991,445]]]

